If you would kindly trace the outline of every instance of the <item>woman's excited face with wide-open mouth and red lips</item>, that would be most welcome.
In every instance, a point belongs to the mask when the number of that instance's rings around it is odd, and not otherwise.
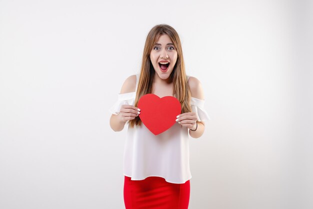
[[[169,78],[177,60],[177,51],[169,36],[158,37],[150,52],[150,60],[156,75],[162,80]]]

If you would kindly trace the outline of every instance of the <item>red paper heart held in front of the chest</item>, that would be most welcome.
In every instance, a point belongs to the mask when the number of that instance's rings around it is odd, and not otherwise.
[[[160,134],[175,124],[181,112],[179,101],[172,96],[159,98],[155,94],[143,95],[137,104],[142,123],[154,134]]]

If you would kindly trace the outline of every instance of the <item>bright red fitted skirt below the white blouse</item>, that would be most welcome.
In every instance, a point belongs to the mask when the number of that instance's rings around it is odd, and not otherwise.
[[[189,196],[190,180],[185,183],[169,183],[156,176],[143,180],[124,177],[126,209],[187,209]]]

